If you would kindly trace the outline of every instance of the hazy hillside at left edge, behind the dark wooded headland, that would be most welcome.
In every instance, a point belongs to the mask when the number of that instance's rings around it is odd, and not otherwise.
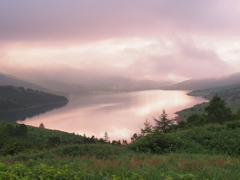
[[[26,89],[29,88],[29,89],[39,90],[39,91],[48,91],[46,88],[41,87],[39,85],[0,73],[0,86],[3,86],[3,85],[12,85],[16,87],[24,87]]]

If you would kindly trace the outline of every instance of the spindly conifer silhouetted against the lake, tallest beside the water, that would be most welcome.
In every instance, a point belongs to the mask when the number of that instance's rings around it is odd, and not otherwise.
[[[156,124],[154,127],[156,131],[162,131],[163,133],[167,133],[169,132],[170,126],[173,125],[173,120],[167,118],[167,114],[164,109],[162,115],[159,117],[159,120],[155,118],[153,119]]]

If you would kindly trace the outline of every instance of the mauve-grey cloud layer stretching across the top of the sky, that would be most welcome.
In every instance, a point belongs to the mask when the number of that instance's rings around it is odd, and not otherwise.
[[[1,1],[0,39],[89,42],[168,33],[240,31],[237,0]]]

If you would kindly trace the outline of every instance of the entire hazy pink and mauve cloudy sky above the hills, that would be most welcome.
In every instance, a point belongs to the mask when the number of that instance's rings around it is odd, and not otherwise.
[[[240,71],[239,22],[239,0],[1,0],[0,71],[222,76]]]

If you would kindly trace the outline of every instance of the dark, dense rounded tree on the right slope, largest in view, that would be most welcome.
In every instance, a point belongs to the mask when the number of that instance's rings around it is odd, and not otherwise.
[[[225,102],[217,95],[215,95],[209,102],[209,105],[205,107],[205,111],[207,113],[207,121],[211,123],[222,124],[224,121],[233,120],[231,109],[226,107]]]

